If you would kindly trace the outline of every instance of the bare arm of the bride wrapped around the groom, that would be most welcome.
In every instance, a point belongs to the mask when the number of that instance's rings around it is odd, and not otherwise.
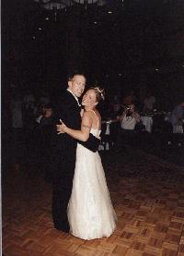
[[[89,138],[91,126],[92,126],[92,118],[89,116],[87,112],[85,112],[82,118],[80,130],[67,128],[64,124],[62,125],[62,128],[65,133],[75,138],[76,140],[86,141]]]

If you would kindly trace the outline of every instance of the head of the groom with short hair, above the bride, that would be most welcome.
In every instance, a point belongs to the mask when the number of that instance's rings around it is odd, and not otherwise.
[[[69,90],[79,98],[85,90],[86,78],[82,75],[75,75],[74,78],[68,82],[68,86]]]

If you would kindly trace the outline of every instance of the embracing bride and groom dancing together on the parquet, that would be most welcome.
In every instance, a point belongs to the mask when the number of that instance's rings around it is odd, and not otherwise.
[[[106,177],[97,152],[101,118],[96,109],[104,94],[98,87],[86,91],[81,110],[78,98],[86,78],[75,74],[57,110],[57,133],[52,152],[52,218],[54,227],[77,238],[109,237],[116,225]],[[82,122],[81,122],[82,117]],[[62,124],[59,124],[62,120]]]

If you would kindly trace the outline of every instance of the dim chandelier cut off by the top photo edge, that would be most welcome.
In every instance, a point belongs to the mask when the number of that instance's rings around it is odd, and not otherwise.
[[[39,3],[41,7],[47,10],[60,10],[74,5],[88,6],[104,6],[107,0],[34,0]]]

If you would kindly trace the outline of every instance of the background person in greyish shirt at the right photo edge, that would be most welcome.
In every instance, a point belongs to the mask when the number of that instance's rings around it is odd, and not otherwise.
[[[168,121],[172,124],[174,133],[183,133],[184,102],[175,106]]]

